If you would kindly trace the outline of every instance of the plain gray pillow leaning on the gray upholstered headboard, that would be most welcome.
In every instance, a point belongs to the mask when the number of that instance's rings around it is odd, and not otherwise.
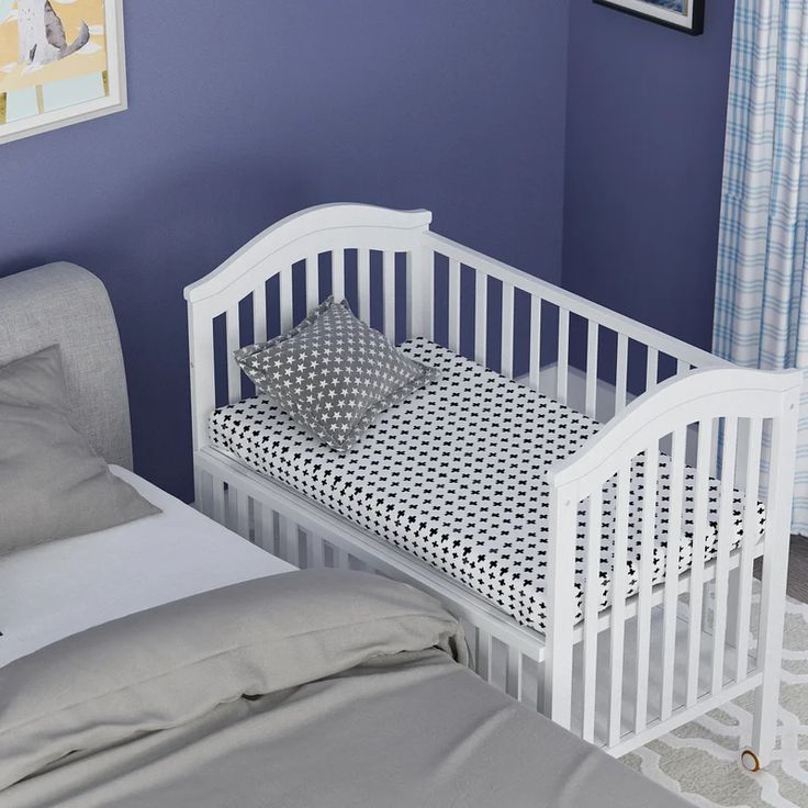
[[[0,367],[0,556],[160,513],[67,413],[58,346]]]

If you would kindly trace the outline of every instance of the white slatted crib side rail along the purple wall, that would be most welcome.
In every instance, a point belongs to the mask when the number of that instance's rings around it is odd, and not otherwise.
[[[416,335],[601,422],[673,375],[727,364],[431,231],[423,249]]]

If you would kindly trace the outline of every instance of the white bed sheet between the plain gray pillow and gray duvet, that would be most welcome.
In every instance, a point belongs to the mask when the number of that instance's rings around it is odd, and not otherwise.
[[[0,558],[0,666],[135,611],[294,570],[143,478],[110,468],[162,513]]]

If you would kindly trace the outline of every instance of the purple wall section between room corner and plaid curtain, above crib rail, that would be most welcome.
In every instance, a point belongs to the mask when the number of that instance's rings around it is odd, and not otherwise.
[[[563,283],[709,348],[733,3],[705,34],[571,0]]]

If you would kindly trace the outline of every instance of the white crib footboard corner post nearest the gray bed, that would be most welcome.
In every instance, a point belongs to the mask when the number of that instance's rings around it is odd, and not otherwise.
[[[546,579],[545,711],[572,725],[573,628],[575,625],[575,537],[577,485],[551,483]]]

